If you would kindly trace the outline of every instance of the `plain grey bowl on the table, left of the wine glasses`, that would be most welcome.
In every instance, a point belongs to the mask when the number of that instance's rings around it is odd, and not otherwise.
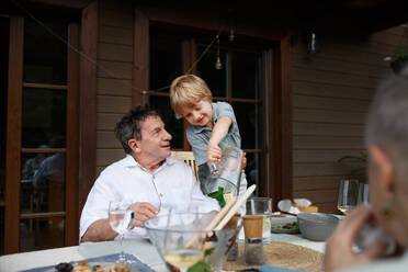
[[[301,213],[297,215],[297,224],[301,234],[309,240],[325,241],[335,230],[339,218],[324,213]]]

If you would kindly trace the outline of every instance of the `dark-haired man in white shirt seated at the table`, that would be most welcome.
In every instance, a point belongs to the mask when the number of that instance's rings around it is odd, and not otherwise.
[[[200,202],[203,212],[219,208],[202,194],[192,169],[170,157],[171,135],[156,111],[132,110],[116,124],[116,137],[127,155],[102,171],[89,193],[80,220],[82,241],[117,236],[107,222],[111,201],[134,203],[135,224],[127,236],[144,236],[143,223],[162,209],[185,209],[192,202]]]

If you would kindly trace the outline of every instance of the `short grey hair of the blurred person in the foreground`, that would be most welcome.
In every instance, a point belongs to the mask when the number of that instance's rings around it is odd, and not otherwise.
[[[377,89],[366,124],[366,147],[376,145],[400,170],[408,163],[408,67]],[[399,171],[400,172],[400,171]],[[400,172],[401,174],[401,172]]]

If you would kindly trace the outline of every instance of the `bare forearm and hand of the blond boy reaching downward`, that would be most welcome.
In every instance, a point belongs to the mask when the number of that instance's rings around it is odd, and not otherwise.
[[[217,121],[217,123],[215,123],[207,146],[207,159],[209,162],[217,162],[220,160],[222,149],[218,144],[227,135],[231,123],[233,121],[228,116],[223,116]]]

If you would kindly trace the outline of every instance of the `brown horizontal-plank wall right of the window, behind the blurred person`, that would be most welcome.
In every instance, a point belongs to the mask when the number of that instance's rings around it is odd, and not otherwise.
[[[337,160],[364,151],[372,95],[392,72],[384,58],[403,41],[405,29],[360,42],[320,37],[317,54],[308,54],[297,38],[291,67],[294,197],[309,199],[322,212],[337,212],[339,181],[353,167]]]

